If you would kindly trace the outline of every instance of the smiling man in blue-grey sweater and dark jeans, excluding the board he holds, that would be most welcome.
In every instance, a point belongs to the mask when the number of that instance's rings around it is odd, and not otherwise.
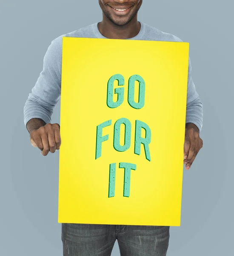
[[[31,144],[46,156],[61,145],[60,125],[51,124],[53,108],[61,92],[62,37],[112,38],[178,41],[180,38],[137,21],[143,0],[99,0],[103,20],[54,39],[44,57],[43,71],[24,106],[24,122]],[[199,134],[203,105],[191,78],[188,60],[188,90],[185,124],[184,163],[189,169],[203,146]],[[64,256],[109,256],[118,241],[122,256],[166,256],[169,227],[62,224]]]

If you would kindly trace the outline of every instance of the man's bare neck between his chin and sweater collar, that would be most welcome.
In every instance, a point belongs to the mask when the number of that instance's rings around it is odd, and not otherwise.
[[[140,31],[140,22],[137,15],[126,25],[118,26],[103,15],[103,20],[98,23],[100,33],[110,39],[128,39],[136,36]]]

